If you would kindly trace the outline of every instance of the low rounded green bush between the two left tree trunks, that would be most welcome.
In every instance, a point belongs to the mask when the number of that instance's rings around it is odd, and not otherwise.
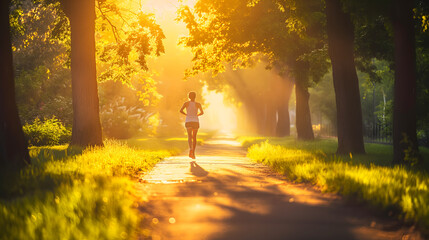
[[[32,124],[25,124],[23,130],[30,146],[58,145],[71,139],[71,131],[55,116],[43,121],[36,118]]]

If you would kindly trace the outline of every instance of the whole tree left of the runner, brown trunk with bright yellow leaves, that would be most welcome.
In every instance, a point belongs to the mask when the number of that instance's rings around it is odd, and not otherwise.
[[[16,47],[15,49],[19,50],[15,53],[20,52],[20,56],[22,56],[20,59],[26,59],[28,62],[29,57],[31,58],[29,55],[33,54],[33,56],[37,56],[37,51],[21,50],[27,47],[25,44],[33,44],[35,42],[34,39],[38,39],[44,44],[42,49],[34,45],[32,45],[31,48],[44,51],[43,56],[45,56],[46,53],[52,52],[46,51],[44,48],[54,48],[56,51],[55,53],[59,53],[58,56],[54,56],[53,58],[48,57],[48,59],[65,58],[68,60],[70,58],[68,52],[70,48],[70,35],[73,35],[71,37],[72,49],[70,51],[73,58],[73,63],[71,64],[74,109],[72,144],[86,146],[101,143],[101,127],[98,120],[98,91],[95,81],[97,77],[100,82],[118,81],[132,88],[138,99],[141,100],[145,106],[156,104],[159,94],[156,92],[154,81],[150,78],[150,74],[144,73],[148,70],[146,57],[148,55],[159,56],[164,51],[162,39],[165,37],[160,26],[155,23],[153,15],[130,10],[136,9],[139,6],[138,3],[132,0],[124,0],[121,2],[116,2],[114,0],[94,0],[94,3],[69,0],[38,0],[34,2],[37,2],[37,4],[27,3],[25,7],[31,8],[33,6],[34,9],[31,11],[31,14],[37,17],[34,17],[32,22],[35,23],[37,28],[40,27],[38,24],[41,24],[41,29],[37,30],[37,37],[31,37],[31,39],[27,40],[24,37],[25,32],[34,29],[34,27],[22,30],[22,28],[18,26],[17,32],[19,33],[18,35],[23,36],[21,41],[24,43],[24,47]],[[95,18],[94,5],[97,6],[99,13],[98,18]],[[80,8],[85,11],[81,11]],[[55,16],[42,14],[40,13],[41,9],[44,9],[43,11],[51,9],[52,12],[55,11]],[[23,10],[24,9],[18,9],[17,12],[19,14],[17,15],[27,15],[25,10]],[[22,12],[24,12],[24,14],[22,14]],[[64,15],[64,13],[67,13],[67,16]],[[46,17],[41,18],[40,16]],[[55,21],[49,23],[49,27],[43,26],[43,24],[49,22],[49,18],[52,17],[54,17]],[[15,18],[14,22],[21,23],[21,19]],[[93,24],[94,20],[96,20],[97,23],[96,27],[94,27]],[[72,26],[70,26],[69,22]],[[126,25],[126,27],[124,27],[124,25]],[[73,31],[72,34],[70,34],[70,27]],[[102,41],[98,41],[96,47],[92,44],[95,42],[95,30],[97,31],[96,35],[98,38],[102,39]],[[41,36],[40,33],[45,33],[45,35]],[[60,49],[54,46],[52,38],[64,42],[66,49]],[[93,57],[95,49],[98,50],[98,59]],[[100,64],[98,76],[95,76],[96,62]],[[21,66],[18,70],[23,68],[24,71],[22,72],[29,72],[24,76],[29,76],[27,78],[31,78],[31,75],[35,75],[35,71],[29,69],[29,67],[34,65],[38,69],[38,66],[41,66],[40,64],[46,67],[46,64],[39,62]],[[69,64],[67,63],[62,64],[62,66],[66,70],[69,68]],[[48,71],[52,72],[52,69],[48,69]],[[58,71],[54,72],[58,73]],[[53,81],[52,77],[49,78],[48,76],[48,79],[44,77],[45,76],[38,76],[38,83],[40,82],[41,85],[47,85],[46,83],[49,82],[49,80]],[[26,83],[21,84],[22,88],[24,88],[25,84]],[[51,96],[44,97],[45,99],[50,99]],[[68,101],[67,98],[66,101]],[[43,106],[47,105],[43,102],[41,104]],[[36,112],[39,113],[40,111]]]

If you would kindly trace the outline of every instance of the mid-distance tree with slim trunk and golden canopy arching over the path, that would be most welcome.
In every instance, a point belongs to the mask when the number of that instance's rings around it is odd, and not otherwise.
[[[317,9],[320,4],[304,4]],[[308,106],[308,82],[311,67],[308,59],[302,58],[315,49],[323,47],[313,38],[316,23],[323,22],[320,15],[307,15],[300,21],[296,17],[298,1],[205,1],[195,6],[195,14],[183,8],[180,18],[187,24],[190,37],[184,44],[193,49],[193,71],[223,71],[223,62],[232,62],[236,68],[248,67],[258,54],[269,56],[270,64],[280,65],[302,87],[297,96],[300,113],[297,115],[298,138],[313,139],[313,130]],[[237,17],[241,16],[241,17]],[[322,20],[322,21],[320,21]],[[309,31],[307,31],[308,29]],[[319,28],[320,29],[320,28]],[[304,62],[304,64],[303,64]],[[305,67],[303,67],[305,66]],[[302,77],[305,76],[305,77]],[[290,79],[287,79],[290,80]],[[302,82],[301,82],[302,81]],[[306,119],[302,119],[302,118]]]

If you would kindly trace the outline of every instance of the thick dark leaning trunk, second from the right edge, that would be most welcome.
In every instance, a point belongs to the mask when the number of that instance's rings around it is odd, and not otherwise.
[[[365,153],[359,82],[354,62],[354,26],[340,0],[326,0],[328,51],[337,105],[339,154]]]

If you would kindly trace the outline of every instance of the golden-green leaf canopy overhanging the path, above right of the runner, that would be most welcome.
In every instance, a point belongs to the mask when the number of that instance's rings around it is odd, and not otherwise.
[[[327,71],[320,1],[199,0],[194,9],[183,6],[178,17],[190,32],[180,43],[194,54],[188,75],[224,72],[224,62],[246,68],[261,54],[269,67],[295,76],[304,72],[316,82]]]

